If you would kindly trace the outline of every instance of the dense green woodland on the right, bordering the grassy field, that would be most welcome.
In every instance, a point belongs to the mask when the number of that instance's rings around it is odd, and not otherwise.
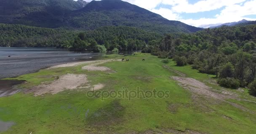
[[[193,34],[166,35],[157,46],[143,52],[173,58],[178,66],[191,64],[202,73],[216,75],[222,86],[250,85],[256,91],[255,42],[256,25],[223,26]]]

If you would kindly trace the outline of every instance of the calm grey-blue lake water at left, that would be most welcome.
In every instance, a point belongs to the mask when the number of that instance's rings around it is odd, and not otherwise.
[[[0,47],[0,79],[36,72],[56,64],[94,60],[100,56],[100,53],[75,53],[56,48]]]

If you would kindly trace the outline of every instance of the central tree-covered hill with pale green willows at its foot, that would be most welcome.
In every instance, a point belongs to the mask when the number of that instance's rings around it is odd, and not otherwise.
[[[79,33],[74,40],[66,41],[61,47],[71,51],[137,51],[157,39],[161,39],[159,34],[139,28],[104,26]]]

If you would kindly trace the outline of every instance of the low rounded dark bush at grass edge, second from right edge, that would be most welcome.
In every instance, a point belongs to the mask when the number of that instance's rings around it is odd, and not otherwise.
[[[239,85],[240,85],[239,80],[237,80],[235,78],[220,78],[218,80],[218,83],[222,87],[233,88],[233,89],[239,88]]]

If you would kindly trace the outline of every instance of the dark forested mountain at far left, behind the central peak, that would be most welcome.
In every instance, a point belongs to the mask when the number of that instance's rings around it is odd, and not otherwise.
[[[65,14],[84,7],[73,0],[0,0],[0,23],[56,28]]]

